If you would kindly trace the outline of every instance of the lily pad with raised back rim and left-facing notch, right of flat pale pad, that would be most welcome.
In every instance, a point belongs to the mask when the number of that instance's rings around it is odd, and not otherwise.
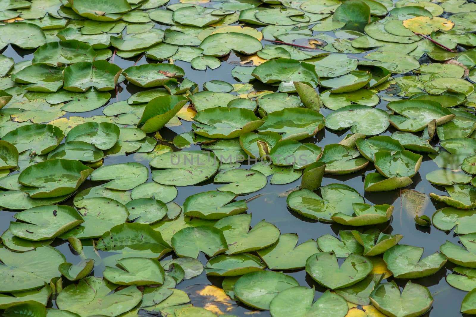
[[[440,103],[431,100],[399,100],[388,103],[387,108],[400,115],[389,115],[390,124],[400,131],[418,132],[432,121],[443,125],[455,117]]]

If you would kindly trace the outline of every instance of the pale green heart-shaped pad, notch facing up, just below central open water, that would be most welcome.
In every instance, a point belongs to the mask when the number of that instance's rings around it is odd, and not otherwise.
[[[315,240],[307,240],[297,245],[296,233],[284,233],[268,248],[256,251],[268,269],[302,269],[311,255],[319,252]]]

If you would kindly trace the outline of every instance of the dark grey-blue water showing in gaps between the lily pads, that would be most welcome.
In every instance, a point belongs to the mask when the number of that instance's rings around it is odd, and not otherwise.
[[[1,1],[1,0],[0,0]],[[34,50],[31,51],[24,51],[18,48],[12,48],[9,46],[4,50],[2,54],[14,58],[15,62],[19,62],[21,60],[29,60],[32,59],[32,54]],[[185,70],[185,74],[188,79],[196,82],[198,86],[201,87],[203,83],[218,79],[224,80],[228,83],[235,84],[238,83],[232,76],[231,70],[236,65],[232,63],[236,63],[239,61],[239,57],[236,55],[231,54],[229,56],[228,61],[224,61],[220,67],[215,70],[208,69],[207,71],[197,71],[190,67],[190,64],[183,61],[176,61],[175,64],[179,67],[182,67]],[[121,68],[127,68],[132,66],[136,63],[137,59],[122,59],[118,56],[115,56],[114,63],[117,64]],[[155,63],[156,61],[147,60],[145,57],[140,58],[137,61],[137,65],[146,64],[146,63]],[[263,87],[256,86],[257,89],[262,89]],[[130,85],[127,82],[123,82],[119,85],[118,94],[114,91],[111,91],[111,99],[108,104],[127,100],[129,96],[134,94],[135,92],[139,91],[136,86]],[[266,87],[269,89],[269,86]],[[385,109],[387,102],[381,101],[381,103],[377,106],[377,108]],[[65,117],[69,117],[70,115],[81,115],[81,116],[92,116],[92,115],[102,115],[103,107],[96,109],[91,112],[87,113],[67,113]],[[321,113],[326,116],[330,113],[331,110],[328,109],[321,109]],[[191,123],[182,121],[182,125],[174,126],[170,128],[163,128],[160,131],[160,134],[165,137],[167,140],[172,140],[173,137],[177,134],[188,132],[191,130]],[[392,127],[388,129],[384,135],[390,135],[394,132]],[[334,144],[338,143],[342,140],[347,131],[341,131],[339,133],[323,129],[320,131],[314,138],[303,140],[302,142],[313,142],[322,148],[326,144]],[[437,145],[437,144],[434,144]],[[190,149],[199,149],[198,146],[192,146]],[[134,162],[134,155],[125,155],[125,156],[115,156],[115,157],[106,157],[104,159],[104,165],[114,164],[114,163],[124,163],[124,162]],[[137,161],[136,161],[137,162]],[[139,161],[140,162],[140,161]],[[144,163],[144,165],[149,166],[147,161],[140,162]],[[249,168],[250,165],[242,165],[241,168]],[[407,187],[410,189],[417,190],[418,192],[423,192],[428,194],[429,192],[435,192],[437,194],[443,194],[444,189],[443,187],[434,186],[428,181],[426,181],[425,175],[437,168],[436,163],[434,163],[427,155],[424,155],[424,160],[421,165],[421,168],[417,175],[413,177],[413,183]],[[415,224],[413,217],[407,215],[407,212],[402,206],[401,198],[400,198],[400,190],[395,190],[391,192],[376,192],[376,193],[365,193],[364,192],[364,176],[367,173],[375,172],[375,168],[372,164],[369,164],[364,171],[358,171],[356,173],[342,175],[342,176],[334,176],[326,174],[322,185],[327,185],[329,183],[345,183],[348,186],[355,188],[366,200],[366,202],[371,202],[373,204],[393,204],[395,206],[395,210],[393,212],[392,219],[389,223],[380,226],[379,228],[383,230],[387,234],[402,234],[404,238],[400,241],[400,244],[408,244],[414,245],[418,247],[424,247],[425,251],[423,257],[426,257],[436,251],[439,250],[440,245],[445,243],[446,240],[452,241],[454,243],[459,243],[459,239],[456,235],[452,232],[443,232],[439,231],[434,227],[420,227]],[[151,174],[149,175],[149,181],[152,181]],[[242,196],[240,198],[248,199],[250,197],[259,195],[256,199],[253,199],[248,202],[248,213],[252,213],[252,222],[251,226],[254,226],[256,223],[261,221],[262,219],[266,219],[266,221],[271,222],[272,224],[276,225],[281,233],[288,233],[293,232],[297,233],[299,236],[299,242],[304,242],[309,239],[317,239],[319,236],[324,234],[330,233],[332,235],[338,236],[339,230],[348,230],[349,227],[341,226],[338,224],[328,224],[322,223],[318,221],[312,221],[307,218],[303,218],[299,216],[297,213],[288,210],[286,204],[286,197],[280,196],[279,194],[286,192],[292,188],[297,187],[300,184],[300,180],[297,180],[294,183],[289,183],[285,185],[271,185],[269,184],[268,177],[268,185],[261,189],[258,192],[253,192],[249,195]],[[91,186],[96,186],[99,183],[94,183],[92,185],[89,181],[84,183],[81,189],[88,188]],[[204,192],[209,190],[214,190],[218,187],[218,185],[213,183],[205,183],[199,184],[196,186],[187,186],[187,187],[178,187],[178,196],[174,200],[174,202],[178,204],[182,204],[184,200],[195,193]],[[71,204],[71,199],[67,204]],[[436,204],[434,202],[430,202],[426,206],[425,214],[431,218],[433,213],[439,209],[444,207],[445,205]],[[0,211],[0,232],[5,231],[9,227],[10,221],[15,221],[13,218],[15,212],[12,211]],[[56,241],[55,241],[56,242]],[[69,247],[68,242],[57,243],[55,245],[65,256],[68,262],[77,263],[80,260],[80,257],[74,253],[72,249]],[[85,249],[91,253],[93,256],[92,247],[85,247]],[[105,252],[100,251],[99,255],[105,255]],[[168,257],[170,258],[170,256]],[[165,258],[165,259],[168,259]],[[207,257],[200,254],[198,258],[203,264],[206,263]],[[341,262],[343,259],[339,259]],[[466,292],[458,290],[456,288],[452,288],[446,283],[445,276],[446,274],[450,273],[453,268],[453,264],[447,263],[446,266],[439,270],[435,275],[417,279],[416,282],[418,284],[424,285],[429,288],[430,292],[433,294],[434,303],[431,310],[424,316],[431,316],[431,317],[448,317],[448,316],[462,316],[459,312],[460,304],[466,295]],[[96,267],[94,271],[95,276],[101,276],[102,270],[104,269],[103,265],[99,265]],[[319,298],[321,293],[324,292],[326,289],[319,286],[316,282],[314,282],[303,270],[299,271],[292,271],[286,272],[287,274],[296,278],[301,286],[309,286],[315,287],[317,290],[316,298]],[[390,278],[391,279],[391,278]],[[213,284],[218,287],[221,287],[221,278],[213,278],[207,277],[205,273],[202,273],[200,276],[185,280],[181,282],[177,288],[184,289],[189,285],[193,284]],[[403,287],[407,280],[396,280],[397,284],[400,287]],[[65,282],[64,282],[65,283]],[[64,284],[64,286],[67,283]],[[193,304],[192,300],[192,304]],[[199,304],[198,304],[199,305]],[[54,303],[54,299],[50,303],[50,307],[56,307]],[[234,310],[230,311],[230,314],[235,316],[249,316],[249,313],[252,310],[248,309],[247,307],[237,305]],[[258,316],[270,316],[269,312],[255,312],[253,315]]]

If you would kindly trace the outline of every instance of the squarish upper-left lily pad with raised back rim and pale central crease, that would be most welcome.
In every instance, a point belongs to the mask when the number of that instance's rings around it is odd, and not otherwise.
[[[75,92],[85,92],[90,87],[99,91],[113,90],[121,72],[119,66],[106,60],[78,62],[64,69],[64,89]]]

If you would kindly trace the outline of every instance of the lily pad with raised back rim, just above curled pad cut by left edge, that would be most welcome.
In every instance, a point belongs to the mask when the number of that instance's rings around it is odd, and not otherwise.
[[[55,149],[63,137],[63,132],[54,125],[24,125],[5,134],[2,141],[15,145],[19,153],[31,150],[42,155]]]

